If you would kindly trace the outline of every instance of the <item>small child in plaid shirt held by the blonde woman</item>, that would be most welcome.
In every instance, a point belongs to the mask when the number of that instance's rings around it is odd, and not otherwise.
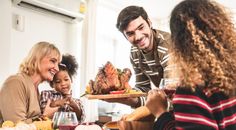
[[[84,109],[81,101],[71,97],[71,85],[73,76],[77,73],[78,63],[74,56],[66,54],[62,56],[59,71],[55,74],[50,86],[54,90],[41,92],[40,107],[44,115],[52,118],[56,111],[73,111],[79,122],[84,120]],[[58,109],[45,113],[48,106]]]

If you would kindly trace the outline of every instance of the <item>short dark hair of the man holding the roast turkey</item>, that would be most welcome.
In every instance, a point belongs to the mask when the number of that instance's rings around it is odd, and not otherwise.
[[[117,18],[117,29],[123,33],[129,23],[134,19],[138,18],[139,16],[141,16],[149,24],[147,12],[144,10],[143,7],[128,6],[124,8],[123,10],[121,10]]]

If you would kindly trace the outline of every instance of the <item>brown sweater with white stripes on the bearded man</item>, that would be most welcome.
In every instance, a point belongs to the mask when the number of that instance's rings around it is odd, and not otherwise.
[[[148,92],[151,89],[151,82],[158,87],[164,73],[169,69],[167,61],[169,59],[168,46],[170,44],[170,34],[160,30],[153,32],[153,51],[143,53],[136,46],[131,47],[130,61],[136,76],[135,89]],[[141,105],[144,105],[144,98],[140,98]]]

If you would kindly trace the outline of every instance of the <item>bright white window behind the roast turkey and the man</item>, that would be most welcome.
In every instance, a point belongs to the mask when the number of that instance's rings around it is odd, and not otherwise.
[[[130,68],[132,70],[129,61],[130,43],[115,26],[118,13],[119,11],[101,3],[97,7],[95,45],[95,64],[97,70],[107,61],[110,61],[117,68]],[[134,76],[132,76],[129,83],[131,86],[134,86]],[[118,103],[98,101],[98,108],[100,114],[114,112],[120,114],[130,113],[129,106]]]

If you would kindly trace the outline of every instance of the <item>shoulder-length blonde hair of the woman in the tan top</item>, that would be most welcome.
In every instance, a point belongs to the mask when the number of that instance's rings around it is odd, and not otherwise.
[[[39,70],[40,61],[47,55],[55,53],[58,59],[61,60],[59,49],[48,42],[38,42],[35,44],[23,62],[20,64],[19,71],[27,75],[33,75]]]

